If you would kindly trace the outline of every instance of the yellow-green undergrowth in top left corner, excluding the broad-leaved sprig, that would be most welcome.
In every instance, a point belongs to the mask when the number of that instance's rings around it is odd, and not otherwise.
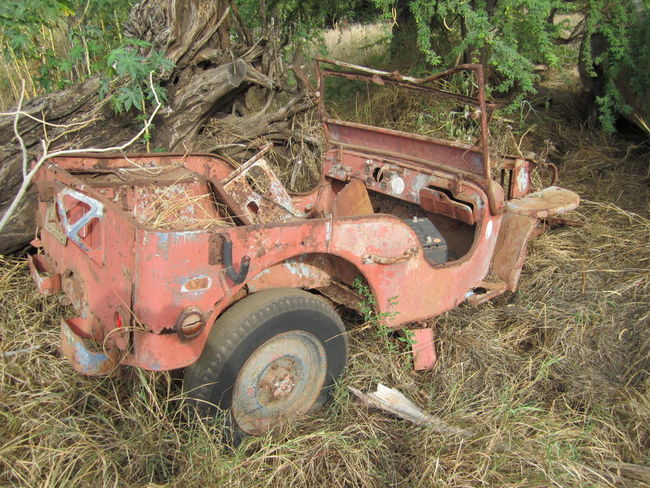
[[[0,89],[27,79],[28,96],[65,88],[105,70],[122,42],[135,0],[3,0]]]

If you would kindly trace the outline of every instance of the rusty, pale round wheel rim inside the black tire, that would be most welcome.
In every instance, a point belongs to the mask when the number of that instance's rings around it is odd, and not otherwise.
[[[313,334],[278,334],[246,360],[233,386],[231,412],[239,427],[260,435],[304,415],[325,383],[327,357]]]

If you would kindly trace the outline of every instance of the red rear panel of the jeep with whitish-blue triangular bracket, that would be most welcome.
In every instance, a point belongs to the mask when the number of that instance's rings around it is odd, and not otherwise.
[[[68,158],[67,164],[71,164]],[[90,158],[82,169],[90,168]],[[56,162],[56,161],[55,161]],[[101,160],[95,159],[97,165]],[[58,166],[51,166],[39,172],[36,184],[57,183],[51,192],[51,200],[39,201],[39,212],[46,215],[48,209],[63,201],[63,209],[69,212],[72,207],[79,207],[79,214],[68,214],[68,229],[62,229],[68,237],[76,235],[78,242],[72,238],[61,240],[52,232],[41,232],[41,245],[50,259],[53,269],[61,275],[61,286],[75,305],[81,319],[86,324],[89,336],[102,341],[116,327],[115,314],[119,307],[131,307],[131,280],[134,262],[134,221],[105,196],[84,183],[83,180],[63,171]],[[60,185],[59,183],[64,183]],[[67,185],[67,187],[66,187]],[[65,189],[68,189],[66,192]],[[73,193],[71,193],[73,192]],[[70,197],[68,201],[66,201]],[[88,200],[91,204],[101,204],[101,211],[95,212],[87,222],[81,221],[75,229],[75,223],[88,215],[92,205],[78,205]],[[95,207],[99,209],[99,205]],[[63,226],[62,226],[63,227]],[[110,238],[107,238],[109,237]],[[95,239],[98,237],[98,239]],[[81,245],[80,245],[81,244]],[[85,247],[85,249],[84,249]],[[128,326],[126,315],[125,326]],[[128,335],[112,334],[111,342],[115,347],[128,349]]]

